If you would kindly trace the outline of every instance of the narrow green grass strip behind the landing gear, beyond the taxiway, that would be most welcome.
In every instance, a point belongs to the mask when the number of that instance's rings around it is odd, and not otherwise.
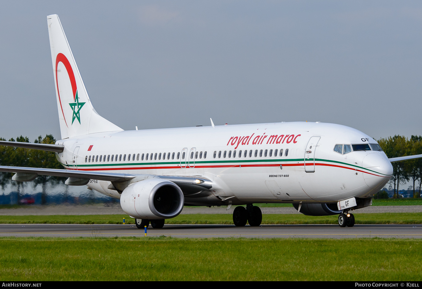
[[[262,224],[337,224],[337,215],[263,214]],[[0,216],[3,224],[134,224],[128,215]],[[356,224],[422,224],[422,213],[355,214]],[[166,224],[233,224],[231,214],[188,214],[167,219]]]

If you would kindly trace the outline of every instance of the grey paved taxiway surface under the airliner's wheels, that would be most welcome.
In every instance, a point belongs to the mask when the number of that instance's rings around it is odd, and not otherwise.
[[[179,238],[422,238],[422,225],[165,225],[147,230],[148,236]],[[0,236],[16,237],[142,237],[135,225],[0,224]]]

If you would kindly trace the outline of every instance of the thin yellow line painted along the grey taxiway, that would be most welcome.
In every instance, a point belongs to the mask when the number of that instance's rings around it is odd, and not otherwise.
[[[144,233],[23,233],[23,232],[0,232],[0,234],[78,234],[78,235],[144,235]],[[149,233],[148,235],[160,235],[159,233]],[[219,235],[219,236],[234,236],[234,235],[249,235],[249,236],[422,236],[422,234],[161,234],[161,235]]]

